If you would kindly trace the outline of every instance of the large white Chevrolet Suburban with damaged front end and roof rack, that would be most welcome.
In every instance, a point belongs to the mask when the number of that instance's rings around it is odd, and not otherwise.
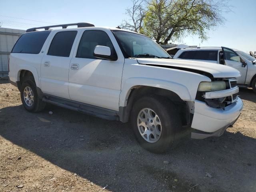
[[[119,28],[58,26],[28,29],[10,54],[10,82],[29,112],[47,102],[130,120],[138,142],[155,153],[184,132],[220,136],[241,113],[234,68],[174,60],[147,36]]]

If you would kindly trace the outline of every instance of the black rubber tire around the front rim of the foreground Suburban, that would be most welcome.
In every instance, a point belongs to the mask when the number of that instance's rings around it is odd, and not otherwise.
[[[154,143],[146,141],[140,134],[137,126],[137,117],[143,108],[150,108],[156,112],[162,124],[162,133]],[[176,132],[182,127],[180,115],[176,106],[168,99],[161,96],[146,96],[137,100],[131,111],[131,124],[136,139],[146,150],[153,153],[168,151],[174,143]]]

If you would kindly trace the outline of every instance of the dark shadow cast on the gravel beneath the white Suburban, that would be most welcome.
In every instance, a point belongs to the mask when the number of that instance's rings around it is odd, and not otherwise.
[[[0,111],[2,137],[108,190],[188,191],[196,184],[193,191],[256,190],[256,139],[240,132],[152,154],[137,144],[129,124],[56,106],[36,114],[21,105]]]

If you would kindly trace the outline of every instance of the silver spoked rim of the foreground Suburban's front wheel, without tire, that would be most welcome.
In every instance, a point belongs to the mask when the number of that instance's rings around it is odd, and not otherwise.
[[[137,126],[140,135],[150,143],[157,142],[162,134],[162,124],[160,118],[150,108],[140,110],[137,117]]]

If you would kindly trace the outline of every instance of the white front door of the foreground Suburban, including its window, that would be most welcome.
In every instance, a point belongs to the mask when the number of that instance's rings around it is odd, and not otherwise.
[[[70,99],[118,111],[124,56],[114,35],[109,30],[85,30],[80,36],[70,62]],[[96,58],[93,53],[97,45],[108,46],[118,59]]]

